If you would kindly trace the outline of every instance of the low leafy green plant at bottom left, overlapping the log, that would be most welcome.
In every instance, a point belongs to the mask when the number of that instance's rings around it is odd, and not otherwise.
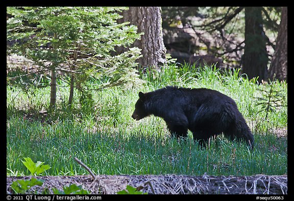
[[[16,194],[23,194],[33,186],[42,186],[43,182],[43,180],[39,180],[36,178],[31,178],[31,180],[17,180],[12,182],[11,188]]]

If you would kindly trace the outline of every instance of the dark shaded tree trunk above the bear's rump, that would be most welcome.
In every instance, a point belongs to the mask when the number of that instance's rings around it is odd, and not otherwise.
[[[242,58],[242,73],[247,74],[249,79],[259,77],[259,82],[267,78],[268,62],[261,9],[245,7],[245,47]]]

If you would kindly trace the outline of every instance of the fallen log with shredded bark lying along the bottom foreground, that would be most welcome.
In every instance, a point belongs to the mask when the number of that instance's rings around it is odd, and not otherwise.
[[[43,180],[26,193],[52,193],[53,188],[76,184],[92,194],[116,194],[127,185],[148,194],[287,194],[287,175],[253,176],[191,176],[191,175],[91,175],[34,176]],[[6,179],[7,194],[14,194],[11,184],[16,180],[30,180],[32,176],[11,176]]]

